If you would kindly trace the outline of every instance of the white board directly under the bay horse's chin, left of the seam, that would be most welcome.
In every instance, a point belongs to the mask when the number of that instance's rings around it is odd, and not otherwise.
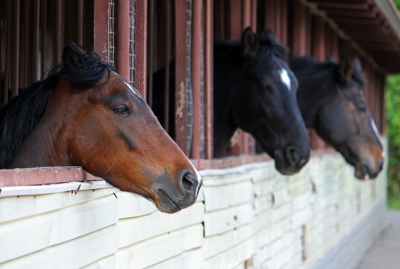
[[[157,211],[142,217],[121,219],[117,223],[119,230],[118,247],[126,247],[163,233],[202,223],[203,221],[204,205],[202,202],[194,203],[191,207],[175,214]]]

